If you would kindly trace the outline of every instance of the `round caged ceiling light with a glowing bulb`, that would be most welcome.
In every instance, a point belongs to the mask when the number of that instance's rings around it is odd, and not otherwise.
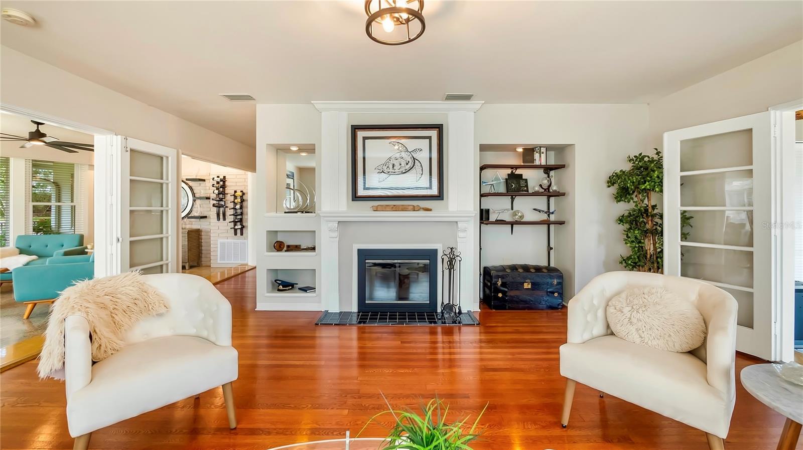
[[[385,45],[411,43],[424,34],[424,0],[365,0],[365,34]]]

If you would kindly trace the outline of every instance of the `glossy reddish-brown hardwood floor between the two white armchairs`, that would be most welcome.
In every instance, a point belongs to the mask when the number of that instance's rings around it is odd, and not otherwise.
[[[254,311],[255,282],[250,271],[217,285],[234,306],[238,428],[229,430],[218,388],[94,432],[89,448],[264,450],[354,436],[385,407],[382,391],[394,407],[437,394],[453,418],[490,403],[477,450],[707,449],[703,432],[581,385],[569,428],[560,428],[563,311],[483,310],[483,325],[466,327],[315,326],[319,313]],[[758,362],[739,355],[736,373]],[[35,361],[0,383],[0,448],[72,448],[63,383],[38,381]],[[726,448],[775,448],[784,422],[739,385]]]

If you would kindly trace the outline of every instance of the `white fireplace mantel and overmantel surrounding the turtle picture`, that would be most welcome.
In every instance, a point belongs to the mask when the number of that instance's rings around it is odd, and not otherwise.
[[[318,162],[320,181],[317,203],[320,217],[320,294],[324,310],[340,310],[340,223],[369,222],[378,226],[401,222],[450,222],[454,223],[458,250],[463,254],[462,289],[460,304],[463,310],[479,309],[479,246],[477,245],[477,167],[479,154],[474,144],[475,112],[482,102],[312,102],[320,111],[320,154]],[[399,114],[407,116],[422,114],[416,120],[427,119],[427,114],[438,114],[443,121],[443,172],[445,178],[444,200],[435,211],[374,212],[353,209],[351,199],[351,169],[349,160],[349,120],[353,115],[365,116]],[[444,117],[445,120],[444,120]],[[380,120],[381,121],[381,120]],[[422,122],[413,122],[422,123]],[[362,205],[360,205],[362,206]],[[426,239],[425,239],[426,241]],[[392,248],[393,237],[386,242]],[[431,244],[432,242],[430,242]],[[344,250],[345,251],[345,250]],[[349,251],[351,251],[349,249]],[[351,304],[349,302],[343,302]]]

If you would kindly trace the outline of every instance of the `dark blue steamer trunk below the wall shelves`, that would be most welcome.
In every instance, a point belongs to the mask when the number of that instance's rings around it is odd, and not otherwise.
[[[483,302],[491,310],[560,310],[563,274],[531,264],[484,267]]]

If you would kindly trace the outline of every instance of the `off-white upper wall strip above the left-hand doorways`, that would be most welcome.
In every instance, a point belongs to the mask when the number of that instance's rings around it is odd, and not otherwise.
[[[177,148],[253,172],[254,149],[9,47],[0,52],[0,101],[78,124]]]

